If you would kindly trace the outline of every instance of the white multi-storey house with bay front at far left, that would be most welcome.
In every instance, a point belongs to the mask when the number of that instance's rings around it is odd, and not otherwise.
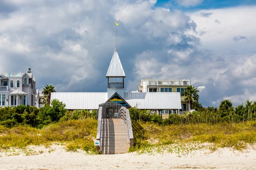
[[[0,107],[35,106],[35,83],[30,68],[26,73],[0,73]]]

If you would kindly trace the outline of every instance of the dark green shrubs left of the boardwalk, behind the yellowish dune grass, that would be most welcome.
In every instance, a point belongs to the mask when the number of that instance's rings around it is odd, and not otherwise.
[[[42,128],[55,122],[96,118],[96,111],[67,111],[65,107],[64,103],[54,99],[51,106],[46,105],[39,109],[29,105],[0,108],[0,125],[9,128],[20,125]]]

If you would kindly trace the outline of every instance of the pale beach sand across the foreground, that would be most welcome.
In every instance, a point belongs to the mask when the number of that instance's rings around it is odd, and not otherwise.
[[[19,155],[20,154],[20,155]],[[11,156],[10,156],[11,155]],[[29,156],[26,156],[29,155]],[[175,153],[87,155],[67,152],[64,146],[31,146],[25,151],[0,151],[0,170],[256,170],[256,150],[196,150],[179,156]]]

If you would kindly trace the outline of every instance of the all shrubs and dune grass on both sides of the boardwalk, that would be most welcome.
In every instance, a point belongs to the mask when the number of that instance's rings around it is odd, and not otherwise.
[[[168,119],[149,111],[129,108],[134,132],[130,151],[182,154],[200,148],[232,147],[242,150],[256,142],[256,102],[247,101],[235,109],[224,100],[219,108],[203,108],[186,115],[170,114]],[[0,149],[49,146],[56,142],[67,150],[96,153],[96,111],[67,111],[65,104],[52,100],[51,106],[0,108]]]

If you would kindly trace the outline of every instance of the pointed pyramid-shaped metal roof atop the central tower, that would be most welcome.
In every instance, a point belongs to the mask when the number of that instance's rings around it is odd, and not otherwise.
[[[122,68],[122,63],[116,50],[114,51],[113,57],[108,67],[106,77],[125,77],[125,71]]]

